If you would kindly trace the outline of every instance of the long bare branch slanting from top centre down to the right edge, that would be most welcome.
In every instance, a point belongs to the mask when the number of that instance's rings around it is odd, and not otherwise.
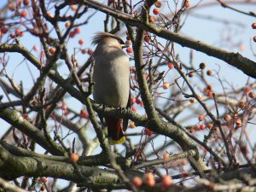
[[[112,15],[113,17],[122,20],[127,25],[137,26],[137,28],[143,29],[147,32],[152,32],[161,38],[166,38],[167,40],[180,44],[184,47],[195,49],[207,55],[214,56],[222,61],[229,63],[231,66],[240,69],[248,76],[256,78],[256,62],[240,55],[239,53],[233,53],[224,49],[219,49],[194,38],[188,38],[176,32],[170,32],[165,28],[143,22],[136,17],[132,17],[131,15],[120,12],[119,10],[109,8],[105,4],[96,2],[94,0],[84,0],[84,4],[90,6],[93,9],[102,11],[105,14]]]

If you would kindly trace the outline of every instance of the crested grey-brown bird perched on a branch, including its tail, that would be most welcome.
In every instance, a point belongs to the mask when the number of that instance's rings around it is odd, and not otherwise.
[[[130,103],[130,61],[123,51],[125,42],[108,32],[97,32],[91,44],[96,45],[92,58],[93,98],[96,103],[109,108],[129,108]],[[109,143],[125,143],[124,132],[128,119],[105,118]]]

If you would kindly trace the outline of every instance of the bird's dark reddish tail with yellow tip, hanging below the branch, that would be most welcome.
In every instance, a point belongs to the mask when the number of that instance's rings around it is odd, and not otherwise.
[[[123,133],[122,119],[106,118],[108,126],[108,137],[110,137],[110,144],[125,143],[125,136]]]

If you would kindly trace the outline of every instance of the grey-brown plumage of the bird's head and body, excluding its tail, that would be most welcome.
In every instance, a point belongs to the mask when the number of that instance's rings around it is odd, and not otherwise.
[[[117,38],[105,32],[97,33],[93,38],[93,43],[97,44],[93,54],[93,96],[97,103],[113,108],[125,108],[130,92],[130,64]]]

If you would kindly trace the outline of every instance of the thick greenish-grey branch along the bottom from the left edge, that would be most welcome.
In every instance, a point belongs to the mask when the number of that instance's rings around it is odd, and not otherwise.
[[[3,163],[0,167],[0,177],[14,179],[15,177],[55,177],[71,180],[75,183],[84,184],[71,163],[42,159],[38,157],[21,157],[9,154],[0,145],[0,156]],[[3,157],[3,154],[6,154]],[[6,165],[4,165],[6,163]],[[87,177],[86,185],[97,189],[125,189],[124,183],[119,180],[118,175],[111,170],[100,169],[90,166],[79,166],[79,172]],[[142,172],[127,170],[126,177],[143,177]]]

